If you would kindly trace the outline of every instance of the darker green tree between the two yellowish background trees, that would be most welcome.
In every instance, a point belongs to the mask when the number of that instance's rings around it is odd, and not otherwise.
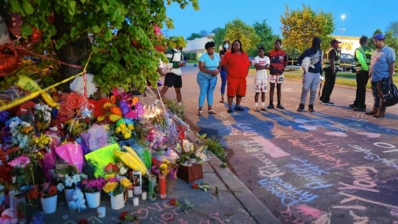
[[[275,40],[280,39],[280,37],[272,33],[272,29],[267,24],[267,21],[265,19],[261,22],[256,21],[253,24],[253,28],[256,31],[256,34],[260,37],[260,42],[257,44],[256,48],[249,52],[249,55],[257,56],[258,48],[261,46],[265,48],[266,53],[274,49],[274,42]]]

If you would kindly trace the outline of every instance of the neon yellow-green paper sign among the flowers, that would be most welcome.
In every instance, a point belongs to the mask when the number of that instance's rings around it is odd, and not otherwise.
[[[96,177],[104,176],[103,168],[109,163],[115,163],[115,157],[113,154],[114,149],[120,150],[119,144],[115,143],[104,146],[84,156],[87,161],[93,160],[97,163],[96,172],[94,173]]]

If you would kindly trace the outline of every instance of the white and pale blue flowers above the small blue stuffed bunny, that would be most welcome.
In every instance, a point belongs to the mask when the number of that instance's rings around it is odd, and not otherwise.
[[[85,173],[77,173],[74,166],[57,170],[55,177],[58,181],[57,189],[59,191],[63,191],[65,188],[74,189],[80,185],[82,180],[87,179],[87,175]]]

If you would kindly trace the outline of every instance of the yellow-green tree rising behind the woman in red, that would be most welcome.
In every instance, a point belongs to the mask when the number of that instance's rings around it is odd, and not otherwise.
[[[240,19],[234,19],[225,25],[225,39],[232,44],[234,40],[240,40],[242,49],[245,52],[250,52],[257,48],[260,42],[260,37],[256,34],[254,28]]]

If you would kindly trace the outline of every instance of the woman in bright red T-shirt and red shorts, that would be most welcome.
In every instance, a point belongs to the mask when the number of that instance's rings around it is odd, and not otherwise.
[[[236,95],[236,111],[244,111],[240,106],[242,97],[246,95],[246,76],[249,73],[249,57],[242,50],[239,40],[232,42],[232,49],[225,53],[221,60],[222,67],[227,70],[228,113],[232,112],[232,101]]]

